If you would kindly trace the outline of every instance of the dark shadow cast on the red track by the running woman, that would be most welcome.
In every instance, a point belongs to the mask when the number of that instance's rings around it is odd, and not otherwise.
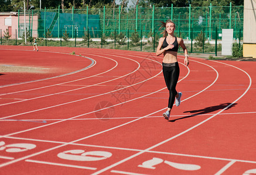
[[[176,120],[181,120],[181,119],[185,119],[185,118],[190,118],[190,117],[194,117],[197,115],[202,115],[202,114],[207,114],[207,113],[211,113],[213,111],[217,111],[217,110],[222,110],[223,108],[227,107],[228,105],[230,105],[231,103],[223,103],[220,104],[218,106],[210,106],[210,107],[206,107],[200,110],[193,110],[193,111],[185,111],[183,113],[196,113],[196,114],[192,114],[186,117],[182,117],[182,118],[177,118],[175,120],[169,120],[170,122],[175,122]],[[237,103],[232,104],[230,107],[228,107],[226,110],[228,110],[231,107],[234,107]]]

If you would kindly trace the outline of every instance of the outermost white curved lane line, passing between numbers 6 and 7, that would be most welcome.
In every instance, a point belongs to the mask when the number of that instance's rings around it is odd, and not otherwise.
[[[216,61],[216,62],[218,62],[218,61]],[[224,63],[222,63],[222,62],[219,62],[219,63],[224,64]],[[228,64],[226,64],[226,65],[228,65]],[[231,67],[234,67],[233,65],[230,65],[230,66],[231,66]],[[202,121],[202,122],[199,122],[198,124],[194,125],[193,127],[190,127],[189,129],[186,129],[185,131],[180,132],[179,134],[177,134],[177,135],[175,135],[175,136],[172,136],[171,138],[166,139],[165,141],[159,142],[159,143],[156,144],[156,145],[153,145],[153,146],[151,146],[151,147],[149,147],[149,148],[147,148],[147,149],[145,149],[145,150],[142,150],[141,152],[138,152],[138,153],[136,153],[136,154],[134,154],[134,155],[132,155],[132,156],[129,156],[129,157],[125,158],[125,159],[122,159],[122,160],[120,160],[120,161],[117,162],[117,163],[111,164],[110,166],[107,166],[107,167],[105,167],[104,169],[101,169],[101,170],[99,170],[99,171],[93,173],[92,175],[103,173],[104,171],[107,171],[107,170],[111,169],[112,167],[115,167],[115,166],[118,166],[119,164],[122,164],[122,163],[124,163],[124,162],[127,162],[128,160],[131,160],[131,159],[133,159],[134,157],[139,156],[139,155],[141,155],[142,153],[145,153],[145,152],[148,151],[148,150],[151,150],[151,149],[153,149],[153,148],[156,148],[157,146],[160,146],[160,145],[162,145],[163,143],[169,142],[169,141],[171,141],[172,139],[175,139],[175,138],[177,138],[178,136],[183,135],[183,134],[185,134],[185,133],[191,131],[192,129],[194,129],[194,128],[196,128],[196,127],[198,127],[198,126],[204,124],[204,122],[209,121],[211,118],[215,117],[216,115],[222,113],[222,112],[223,112],[224,110],[226,110],[228,107],[232,106],[236,101],[240,100],[240,99],[248,92],[248,90],[249,90],[250,87],[251,87],[251,76],[250,76],[249,74],[247,74],[247,72],[245,72],[244,70],[242,70],[242,69],[240,69],[240,68],[237,68],[237,67],[234,67],[234,68],[236,68],[236,69],[238,69],[238,70],[244,72],[244,73],[248,76],[248,78],[249,78],[249,80],[250,80],[250,83],[249,83],[249,85],[248,85],[248,87],[247,87],[247,90],[245,90],[245,92],[244,92],[240,97],[238,97],[236,100],[234,100],[230,105],[228,105],[227,107],[223,108],[223,109],[220,110],[218,113],[212,115],[211,117],[207,118],[206,120],[204,120],[204,121]],[[218,74],[218,76],[219,76],[219,74]]]

